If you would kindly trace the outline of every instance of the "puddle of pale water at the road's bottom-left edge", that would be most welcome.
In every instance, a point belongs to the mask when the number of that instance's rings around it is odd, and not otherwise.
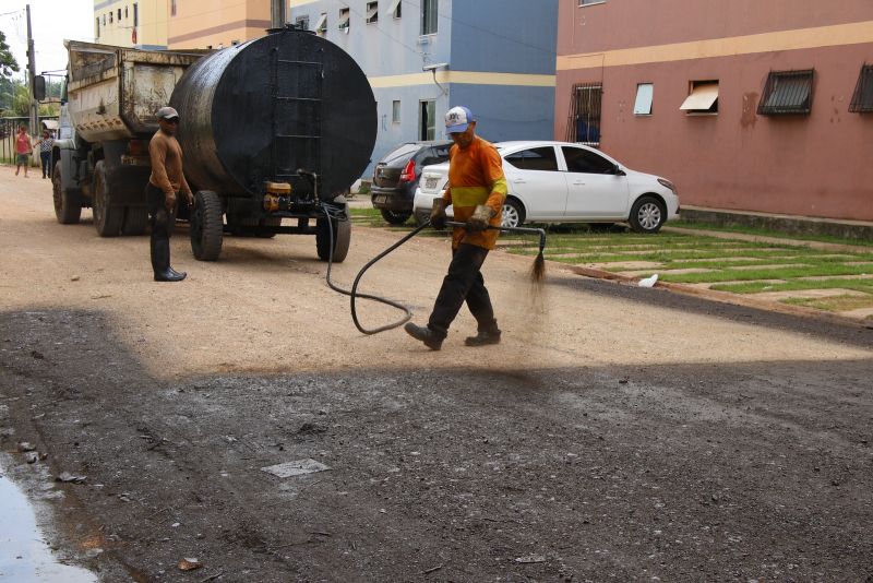
[[[0,581],[15,583],[96,583],[97,576],[61,564],[36,527],[34,507],[5,477],[0,460]]]

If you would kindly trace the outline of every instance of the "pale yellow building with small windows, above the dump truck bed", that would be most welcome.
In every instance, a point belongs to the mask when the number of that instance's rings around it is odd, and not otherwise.
[[[168,9],[168,0],[94,0],[94,39],[103,45],[166,49]]]

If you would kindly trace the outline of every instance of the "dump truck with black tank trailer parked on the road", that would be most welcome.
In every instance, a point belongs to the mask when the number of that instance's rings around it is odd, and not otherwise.
[[[169,103],[181,118],[176,136],[195,193],[188,218],[196,259],[218,259],[225,234],[314,235],[320,259],[346,258],[345,193],[370,162],[376,105],[344,50],[294,27],[206,55],[72,41],[69,48],[67,110],[75,136],[60,141],[61,164],[53,166],[59,222],[74,222],[68,218],[91,203],[100,236],[142,233],[147,140],[157,130],[155,111]],[[74,50],[84,49],[112,58],[83,63]],[[77,67],[91,69],[75,73]],[[105,78],[113,91],[103,96]],[[122,127],[123,134],[112,133]],[[64,152],[74,163],[69,169]]]

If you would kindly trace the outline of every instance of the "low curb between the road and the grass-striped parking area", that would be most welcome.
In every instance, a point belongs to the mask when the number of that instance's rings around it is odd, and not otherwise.
[[[632,277],[630,275],[620,275],[618,273],[612,273],[605,270],[598,270],[595,267],[569,265],[566,263],[559,263],[555,261],[548,261],[548,263],[550,264],[550,266],[554,266],[563,271],[569,271],[571,273],[575,273],[576,275],[583,275],[585,277],[606,279],[618,284],[632,285],[632,286],[637,286],[639,283],[638,277]],[[806,308],[804,306],[789,306],[786,304],[778,304],[774,301],[764,301],[761,299],[744,297],[738,294],[731,294],[729,291],[704,289],[699,287],[691,287],[684,284],[672,284],[669,282],[657,282],[655,284],[655,287],[659,289],[667,289],[668,291],[673,291],[675,294],[693,296],[707,301],[715,301],[718,304],[730,304],[733,306],[742,306],[744,308],[753,308],[756,310],[784,313],[787,316],[812,318],[830,324],[849,325],[849,326],[873,330],[873,322],[865,322],[863,320],[848,318],[846,316],[823,312],[821,310],[816,310],[814,308]]]

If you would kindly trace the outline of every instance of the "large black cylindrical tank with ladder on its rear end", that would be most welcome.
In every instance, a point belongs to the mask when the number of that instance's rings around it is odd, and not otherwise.
[[[170,98],[192,186],[223,195],[263,192],[266,181],[333,199],[370,162],[372,88],[355,60],[312,33],[273,31],[188,68]]]

